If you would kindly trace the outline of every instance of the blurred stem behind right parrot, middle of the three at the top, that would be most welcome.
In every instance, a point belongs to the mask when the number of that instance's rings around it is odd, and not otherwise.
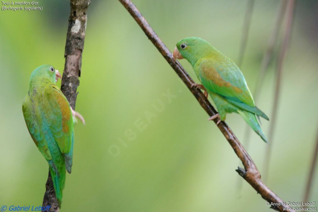
[[[280,8],[277,11],[274,29],[273,29],[273,32],[272,32],[269,40],[268,40],[267,49],[263,55],[263,59],[262,59],[261,66],[259,69],[258,79],[256,82],[256,88],[255,88],[254,93],[253,93],[253,98],[254,98],[255,102],[259,97],[259,92],[263,86],[265,74],[266,74],[266,71],[268,70],[268,65],[271,61],[271,58],[272,58],[272,55],[274,52],[274,45],[277,42],[278,34],[280,31],[280,26],[281,26],[281,23],[284,19],[286,5],[287,5],[287,0],[282,0]],[[244,133],[244,147],[246,149],[249,149],[249,146],[250,146],[250,135],[251,135],[251,127],[249,125],[246,125],[245,133]],[[243,185],[242,182],[243,182],[242,180],[239,180],[239,184],[238,184],[239,190],[241,190],[241,188],[242,188],[242,185]]]

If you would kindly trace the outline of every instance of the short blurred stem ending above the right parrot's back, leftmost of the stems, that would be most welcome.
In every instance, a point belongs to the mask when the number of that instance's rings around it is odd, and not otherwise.
[[[251,17],[252,17],[252,13],[253,13],[253,6],[254,6],[254,0],[248,0],[247,8],[246,8],[246,11],[245,11],[241,47],[240,47],[240,51],[239,51],[239,60],[238,60],[239,68],[241,68],[242,63],[243,63],[243,58],[244,58],[245,49],[246,49],[246,43],[247,43],[247,38],[248,38],[248,32],[250,31]]]

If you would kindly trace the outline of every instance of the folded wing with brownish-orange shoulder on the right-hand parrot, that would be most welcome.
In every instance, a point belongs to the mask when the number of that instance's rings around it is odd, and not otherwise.
[[[232,61],[217,63],[203,60],[198,68],[200,80],[206,89],[223,96],[241,109],[269,120],[266,114],[255,106],[242,72]]]

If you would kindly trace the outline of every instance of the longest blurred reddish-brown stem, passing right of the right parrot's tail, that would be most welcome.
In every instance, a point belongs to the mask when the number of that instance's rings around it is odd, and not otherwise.
[[[283,69],[283,62],[286,55],[286,51],[288,49],[289,40],[291,37],[291,31],[293,26],[294,20],[294,11],[295,11],[295,0],[288,0],[287,1],[287,17],[286,17],[286,24],[285,24],[285,32],[283,37],[283,42],[280,47],[280,53],[277,59],[277,66],[276,66],[276,84],[275,84],[275,96],[272,108],[272,118],[271,118],[271,125],[269,128],[269,136],[268,141],[269,145],[266,147],[266,153],[264,158],[264,175],[263,179],[266,182],[269,172],[269,162],[271,159],[271,152],[273,147],[273,136],[274,136],[274,129],[276,127],[276,117],[277,117],[277,109],[278,109],[278,101],[280,97],[280,84],[281,84],[281,75]]]

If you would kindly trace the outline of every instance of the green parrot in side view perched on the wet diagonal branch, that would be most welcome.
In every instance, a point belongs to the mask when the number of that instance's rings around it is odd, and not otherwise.
[[[193,84],[210,94],[218,113],[209,118],[219,118],[217,125],[226,118],[226,113],[239,113],[252,129],[267,142],[256,116],[269,120],[265,113],[254,103],[245,78],[235,63],[207,41],[191,37],[184,38],[176,44],[174,59],[185,58],[193,67],[201,84]]]

